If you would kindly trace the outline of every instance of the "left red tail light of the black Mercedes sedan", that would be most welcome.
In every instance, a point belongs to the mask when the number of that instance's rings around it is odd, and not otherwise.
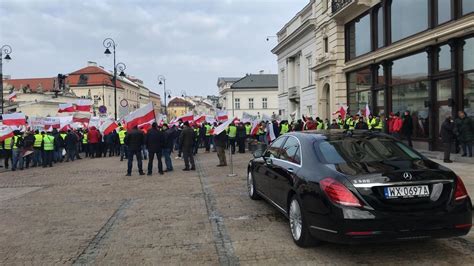
[[[328,177],[321,180],[319,185],[332,202],[344,206],[362,207],[360,200],[341,182]]]

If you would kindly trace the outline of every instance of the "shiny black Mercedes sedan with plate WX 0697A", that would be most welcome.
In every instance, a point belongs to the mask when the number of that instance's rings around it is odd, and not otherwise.
[[[454,237],[472,227],[461,178],[386,134],[293,132],[254,157],[250,198],[282,212],[299,246]]]

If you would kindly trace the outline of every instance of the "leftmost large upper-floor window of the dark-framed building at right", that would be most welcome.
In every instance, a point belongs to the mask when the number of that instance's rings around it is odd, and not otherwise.
[[[370,45],[370,14],[366,14],[350,22],[348,31],[349,59],[366,54],[372,50]]]

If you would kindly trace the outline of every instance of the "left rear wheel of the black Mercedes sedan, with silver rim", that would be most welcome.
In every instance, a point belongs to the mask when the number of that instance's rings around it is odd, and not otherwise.
[[[310,247],[318,243],[309,232],[309,226],[301,209],[301,203],[296,195],[291,198],[288,206],[288,219],[291,237],[296,245],[299,247]]]

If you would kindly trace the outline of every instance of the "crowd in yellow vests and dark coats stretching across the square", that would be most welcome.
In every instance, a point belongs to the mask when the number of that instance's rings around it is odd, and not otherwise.
[[[166,123],[153,123],[151,128],[134,127],[126,130],[119,127],[109,134],[102,134],[97,128],[69,129],[67,131],[14,131],[14,136],[0,143],[0,167],[16,171],[30,167],[53,167],[54,164],[73,162],[83,158],[118,157],[127,160],[127,175],[132,174],[133,160],[136,158],[138,172],[145,175],[143,160],[148,160],[147,174],[153,174],[154,161],[158,173],[173,171],[171,154],[177,152],[175,159],[183,159],[184,171],[196,170],[194,155],[199,148],[204,152],[217,153],[218,167],[226,166],[225,150],[232,154],[245,153],[248,140],[268,144],[272,139],[290,131],[323,130],[323,129],[365,129],[388,132],[398,139],[406,139],[412,146],[413,121],[409,111],[403,115],[391,113],[387,119],[383,116],[347,114],[329,121],[319,117],[303,117],[289,123],[283,121],[262,121],[256,127],[250,122],[233,121],[226,130],[214,135],[214,129],[221,123],[202,123],[179,121],[168,126]],[[385,129],[386,128],[386,129]],[[269,134],[273,135],[271,138]],[[445,162],[449,159],[453,144],[462,148],[463,155],[472,157],[474,142],[474,121],[460,111],[456,119],[447,117],[441,126],[440,137],[445,143]],[[461,150],[461,149],[459,149]],[[82,157],[81,157],[82,155]],[[162,162],[164,158],[164,165]],[[1,163],[3,161],[3,165]]]

